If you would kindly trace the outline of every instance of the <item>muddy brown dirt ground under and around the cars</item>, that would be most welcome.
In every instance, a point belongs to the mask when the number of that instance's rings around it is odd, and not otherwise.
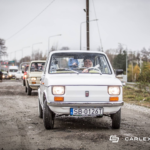
[[[111,135],[119,141],[113,143]],[[38,117],[37,91],[28,96],[21,81],[0,82],[0,150],[28,149],[150,150],[150,113],[126,104],[117,130],[111,128],[111,119],[106,116],[59,117],[54,129],[46,130]]]

